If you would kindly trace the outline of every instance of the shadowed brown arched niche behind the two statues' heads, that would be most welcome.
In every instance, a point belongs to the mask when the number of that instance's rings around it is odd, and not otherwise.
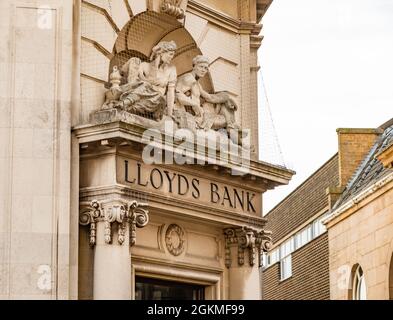
[[[161,41],[175,41],[177,51],[173,64],[178,76],[192,70],[192,59],[202,54],[191,34],[175,18],[154,11],[135,15],[120,31],[113,48],[113,66],[121,68],[131,57],[149,61],[151,51]],[[201,79],[201,84],[209,92],[214,92],[210,74]]]

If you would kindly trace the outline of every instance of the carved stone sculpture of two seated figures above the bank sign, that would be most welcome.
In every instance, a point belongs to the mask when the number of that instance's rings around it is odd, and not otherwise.
[[[162,41],[152,49],[150,62],[132,57],[121,69],[113,67],[103,109],[117,108],[156,121],[165,117],[192,131],[234,130],[241,144],[244,134],[235,120],[236,102],[227,92],[206,92],[199,81],[209,71],[209,59],[196,56],[193,70],[178,77],[172,64],[176,49],[174,41]]]

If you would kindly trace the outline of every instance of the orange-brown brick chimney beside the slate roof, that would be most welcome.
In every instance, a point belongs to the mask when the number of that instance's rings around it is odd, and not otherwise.
[[[337,129],[339,188],[344,189],[383,130]]]

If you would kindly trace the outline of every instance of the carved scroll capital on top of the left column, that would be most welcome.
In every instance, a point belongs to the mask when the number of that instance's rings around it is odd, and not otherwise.
[[[112,243],[112,224],[118,224],[118,243],[122,245],[126,239],[126,228],[130,231],[130,246],[136,242],[136,228],[143,228],[149,222],[147,204],[137,201],[101,203],[92,201],[91,204],[81,211],[79,223],[82,226],[90,226],[90,245],[96,244],[97,224],[105,224],[105,243]]]

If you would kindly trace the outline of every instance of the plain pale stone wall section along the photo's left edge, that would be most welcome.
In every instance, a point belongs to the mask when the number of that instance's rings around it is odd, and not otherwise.
[[[72,13],[71,2],[1,2],[0,291],[6,299],[69,296],[69,261],[60,258],[68,255],[68,240],[57,241],[64,240],[57,230],[69,234],[62,222],[70,215]]]

